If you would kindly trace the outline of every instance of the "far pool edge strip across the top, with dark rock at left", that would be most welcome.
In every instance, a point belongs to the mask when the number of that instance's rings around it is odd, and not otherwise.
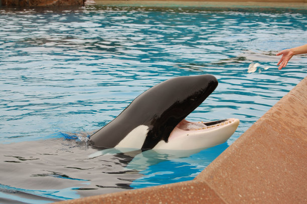
[[[0,0],[1,7],[61,6],[215,7],[307,9],[307,0]]]

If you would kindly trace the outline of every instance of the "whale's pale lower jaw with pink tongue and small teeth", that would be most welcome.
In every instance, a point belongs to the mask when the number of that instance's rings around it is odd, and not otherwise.
[[[236,118],[210,122],[182,120],[171,132],[168,142],[160,141],[154,149],[205,149],[226,142],[236,131]]]

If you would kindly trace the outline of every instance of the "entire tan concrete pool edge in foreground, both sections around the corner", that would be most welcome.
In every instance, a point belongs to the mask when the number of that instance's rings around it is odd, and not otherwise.
[[[59,203],[306,203],[307,77],[194,180]]]

